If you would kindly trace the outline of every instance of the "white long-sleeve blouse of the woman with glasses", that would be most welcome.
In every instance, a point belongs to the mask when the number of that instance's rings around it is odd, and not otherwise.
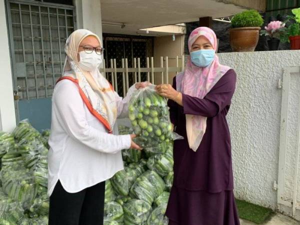
[[[127,114],[134,90],[133,85],[123,99],[115,92],[118,117]],[[72,81],[59,81],[52,95],[48,195],[58,179],[67,192],[74,193],[123,169],[120,150],[130,147],[130,135],[113,133],[89,112]]]

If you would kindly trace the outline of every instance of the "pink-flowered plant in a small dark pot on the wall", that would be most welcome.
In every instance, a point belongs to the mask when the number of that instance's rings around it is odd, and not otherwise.
[[[278,50],[280,35],[285,32],[285,23],[281,21],[271,21],[264,30],[260,30],[260,35],[269,36],[270,39],[267,40],[267,45],[269,50]]]

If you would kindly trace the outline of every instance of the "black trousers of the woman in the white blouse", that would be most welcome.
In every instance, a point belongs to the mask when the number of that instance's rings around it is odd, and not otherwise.
[[[58,180],[50,196],[48,225],[103,225],[105,181],[76,193]]]

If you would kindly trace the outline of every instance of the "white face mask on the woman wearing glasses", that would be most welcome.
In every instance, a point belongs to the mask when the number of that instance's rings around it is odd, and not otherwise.
[[[102,62],[101,55],[97,54],[94,50],[89,54],[84,51],[80,51],[79,56],[79,66],[85,71],[92,71],[96,69]]]

